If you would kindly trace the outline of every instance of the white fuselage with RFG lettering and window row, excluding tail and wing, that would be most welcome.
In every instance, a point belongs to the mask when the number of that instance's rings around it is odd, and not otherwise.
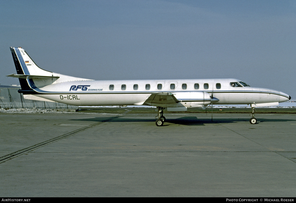
[[[36,90],[43,92],[43,94],[36,96],[77,106],[157,106],[157,104],[147,104],[144,102],[152,93],[169,92],[174,94],[180,102],[174,106],[163,107],[187,108],[210,104],[209,102],[197,102],[194,100],[201,99],[201,94],[207,94],[208,98],[212,96],[219,99],[215,104],[254,104],[289,100],[289,96],[280,91],[250,86],[230,86],[230,83],[238,81],[237,79],[82,80],[53,83],[44,86],[40,88],[41,91]],[[206,95],[203,98],[206,98]],[[182,102],[182,100],[186,100],[186,102]]]

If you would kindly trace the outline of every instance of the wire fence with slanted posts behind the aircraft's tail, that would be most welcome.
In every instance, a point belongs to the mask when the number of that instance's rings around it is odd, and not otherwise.
[[[20,88],[0,88],[0,108],[28,108],[38,109],[77,109],[78,106],[62,104],[58,102],[44,102],[38,100],[24,99],[22,93],[18,93]]]

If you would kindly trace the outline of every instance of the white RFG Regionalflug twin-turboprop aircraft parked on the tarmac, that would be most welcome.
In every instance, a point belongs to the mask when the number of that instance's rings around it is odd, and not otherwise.
[[[209,104],[274,106],[291,97],[283,92],[250,87],[237,79],[194,80],[90,80],[39,68],[21,47],[10,47],[25,99],[60,102],[76,106],[147,105],[158,108],[157,126],[165,122],[163,109],[186,111]]]

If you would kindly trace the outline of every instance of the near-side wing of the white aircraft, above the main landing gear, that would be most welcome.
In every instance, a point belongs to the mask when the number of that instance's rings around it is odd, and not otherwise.
[[[155,92],[152,93],[144,103],[175,104],[178,102],[180,101],[170,92]]]

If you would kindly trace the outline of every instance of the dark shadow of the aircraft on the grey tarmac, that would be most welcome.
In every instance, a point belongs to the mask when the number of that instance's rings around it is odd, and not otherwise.
[[[114,118],[114,119],[112,119]],[[127,118],[127,117],[94,117],[85,119],[71,119],[80,121],[93,121],[93,122],[155,122],[155,118]],[[294,119],[266,119],[259,118],[258,123],[262,122],[287,122],[296,121]],[[238,123],[238,122],[249,122],[249,118],[213,118],[213,121],[208,118],[197,118],[195,116],[185,116],[179,118],[167,118],[165,123],[173,123],[180,125],[204,125],[205,123]],[[165,125],[164,123],[164,125]]]

